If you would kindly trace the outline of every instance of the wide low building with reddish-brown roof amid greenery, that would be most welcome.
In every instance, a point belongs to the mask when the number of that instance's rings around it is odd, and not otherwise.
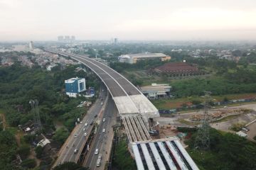
[[[198,68],[187,64],[186,62],[169,62],[162,66],[156,67],[154,71],[178,77],[203,74],[203,72],[200,72]]]

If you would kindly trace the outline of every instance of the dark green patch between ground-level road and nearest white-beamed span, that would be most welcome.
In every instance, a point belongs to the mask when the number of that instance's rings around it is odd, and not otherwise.
[[[117,143],[114,150],[113,166],[119,170],[137,169],[134,159],[132,159],[131,154],[127,149],[125,140],[121,140]]]

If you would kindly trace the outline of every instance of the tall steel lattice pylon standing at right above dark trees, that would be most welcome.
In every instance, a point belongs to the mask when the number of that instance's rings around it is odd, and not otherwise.
[[[204,111],[203,119],[201,120],[201,127],[198,129],[196,136],[195,148],[196,149],[209,149],[210,148],[210,125],[208,120],[208,109],[210,108],[210,91],[205,91],[204,96]]]

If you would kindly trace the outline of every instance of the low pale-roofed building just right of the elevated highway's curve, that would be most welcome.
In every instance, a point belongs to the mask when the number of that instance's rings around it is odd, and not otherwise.
[[[151,84],[151,86],[141,86],[139,88],[147,98],[167,98],[170,96],[171,86],[169,84]]]

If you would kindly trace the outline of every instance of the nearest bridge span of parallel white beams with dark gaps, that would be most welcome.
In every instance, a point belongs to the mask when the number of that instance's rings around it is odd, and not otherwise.
[[[177,138],[133,142],[132,152],[137,169],[192,169],[198,170],[193,159]]]

